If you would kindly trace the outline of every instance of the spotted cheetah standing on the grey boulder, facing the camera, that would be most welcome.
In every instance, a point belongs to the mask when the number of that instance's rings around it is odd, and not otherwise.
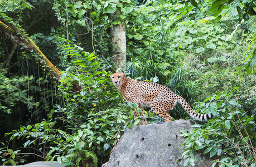
[[[210,120],[212,114],[199,114],[190,107],[190,105],[181,96],[176,95],[168,87],[156,84],[154,82],[137,81],[125,77],[125,72],[117,72],[110,75],[114,86],[122,93],[126,101],[135,102],[138,107],[151,107],[153,112],[161,116],[164,121],[172,121],[168,111],[173,110],[177,102],[183,109],[196,120]],[[146,120],[146,119],[145,119]],[[145,121],[144,120],[144,121]],[[147,123],[143,123],[146,125]]]

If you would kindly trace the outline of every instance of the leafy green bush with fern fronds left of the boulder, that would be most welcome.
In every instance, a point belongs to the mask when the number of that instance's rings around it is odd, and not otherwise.
[[[98,160],[104,162],[108,159],[112,145],[125,127],[137,126],[141,118],[134,119],[133,104],[119,103],[120,96],[110,85],[109,74],[99,71],[99,61],[94,53],[80,51],[71,44],[61,48],[66,56],[73,58],[75,65],[67,68],[60,80],[59,90],[65,105],[56,105],[56,110],[51,110],[49,121],[21,126],[20,130],[6,135],[12,135],[11,140],[27,139],[24,149],[33,145],[40,150],[37,156],[46,160],[57,159],[66,166],[97,166]],[[78,85],[83,89],[74,94],[72,90]],[[52,120],[53,116],[64,122],[61,129],[53,128],[57,123]],[[14,157],[12,160],[17,162],[20,159]]]

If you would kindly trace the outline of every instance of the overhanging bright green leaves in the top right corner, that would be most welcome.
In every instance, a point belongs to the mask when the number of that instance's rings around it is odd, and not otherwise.
[[[210,1],[206,1],[206,3],[209,3]],[[195,1],[191,2],[192,6],[199,8],[198,3]],[[204,5],[204,3],[202,3]],[[255,4],[253,1],[221,1],[217,0],[211,3],[211,7],[208,11],[209,13],[214,14],[214,18],[216,21],[220,21],[221,19],[225,19],[227,15],[234,16],[236,22],[238,23],[238,26],[241,27],[240,37],[244,33],[245,35],[250,34],[249,32],[252,31],[255,36]],[[255,41],[255,37],[252,38],[252,41],[250,41],[250,46],[248,47],[248,51],[250,50],[250,47],[253,45]],[[238,42],[235,43],[237,45]],[[247,52],[248,52],[247,51]],[[252,73],[253,64],[255,62],[255,48],[253,48],[253,51],[247,55],[247,58],[245,58],[246,65],[243,65],[241,67],[244,67],[246,69],[246,72],[250,75]],[[246,52],[245,52],[246,53]],[[240,67],[240,68],[241,68]]]

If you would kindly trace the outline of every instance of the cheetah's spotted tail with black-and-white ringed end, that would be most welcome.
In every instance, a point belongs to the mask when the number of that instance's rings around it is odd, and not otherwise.
[[[199,120],[199,121],[208,121],[210,120],[213,115],[210,114],[199,114],[195,112],[190,105],[181,97],[178,102],[182,105],[183,109],[187,111],[187,113],[192,117],[192,119]]]

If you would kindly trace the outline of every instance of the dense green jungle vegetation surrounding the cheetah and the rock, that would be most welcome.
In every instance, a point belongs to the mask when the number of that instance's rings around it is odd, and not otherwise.
[[[214,115],[182,132],[184,166],[201,149],[212,166],[256,166],[254,3],[1,0],[0,164],[108,161],[142,116],[110,83],[126,71]],[[123,51],[115,30],[125,33]],[[149,124],[162,121],[146,111]],[[180,105],[170,115],[190,119]]]

